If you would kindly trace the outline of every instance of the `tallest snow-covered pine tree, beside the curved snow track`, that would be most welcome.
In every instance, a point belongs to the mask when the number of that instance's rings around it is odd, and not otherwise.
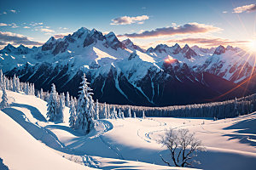
[[[79,91],[79,100],[78,100],[78,108],[77,114],[78,117],[75,122],[75,128],[79,128],[84,131],[84,133],[89,133],[93,125],[91,123],[92,113],[90,107],[90,95],[92,94],[91,88],[88,86],[89,82],[85,77],[85,74],[82,77],[81,86],[79,87],[81,90]],[[90,108],[89,108],[90,107]]]

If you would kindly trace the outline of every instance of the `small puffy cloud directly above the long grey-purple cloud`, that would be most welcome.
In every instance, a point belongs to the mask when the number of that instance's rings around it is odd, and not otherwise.
[[[136,17],[122,16],[122,17],[113,19],[110,25],[130,25],[133,23],[143,24],[143,21],[148,19],[149,17],[147,15],[141,15]]]

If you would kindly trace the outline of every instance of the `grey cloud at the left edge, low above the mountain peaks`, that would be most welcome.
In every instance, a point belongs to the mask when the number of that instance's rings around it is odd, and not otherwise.
[[[13,32],[0,31],[0,42],[12,43],[13,45],[42,45],[42,42],[32,41],[30,37],[26,37]]]

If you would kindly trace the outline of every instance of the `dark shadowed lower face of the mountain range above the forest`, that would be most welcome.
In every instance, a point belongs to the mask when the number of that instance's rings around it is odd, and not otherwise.
[[[35,87],[49,91],[51,83],[55,83],[58,92],[69,92],[78,96],[79,85],[83,71],[77,71],[73,77],[68,77],[71,65],[53,65],[42,63],[24,65],[22,69],[9,71],[7,76],[14,74],[22,82],[33,82]],[[186,105],[219,100],[218,96],[236,87],[233,82],[226,81],[209,73],[195,73],[186,64],[163,64],[163,71],[148,70],[143,79],[131,84],[125,74],[117,74],[111,67],[107,75],[94,77],[87,72],[90,87],[94,89],[94,98],[100,102],[119,105]],[[153,78],[152,78],[153,77]],[[118,86],[117,86],[118,84]],[[232,99],[241,95],[241,88],[221,99]]]

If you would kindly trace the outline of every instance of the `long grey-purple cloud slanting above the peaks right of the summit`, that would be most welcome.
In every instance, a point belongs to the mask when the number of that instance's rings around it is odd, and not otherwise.
[[[169,26],[163,28],[157,28],[152,31],[142,31],[139,33],[119,35],[119,37],[131,37],[131,38],[148,38],[148,37],[162,37],[162,36],[174,36],[181,34],[197,34],[206,33],[211,31],[221,31],[222,29],[209,26],[205,24],[189,23],[183,26]]]

